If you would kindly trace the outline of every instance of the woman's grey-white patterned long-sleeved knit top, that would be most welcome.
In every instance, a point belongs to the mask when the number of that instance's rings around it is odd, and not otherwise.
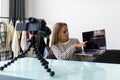
[[[73,44],[79,43],[79,40],[76,38],[70,38],[65,43],[58,43],[56,45],[52,45],[53,54],[57,59],[73,59],[73,54],[77,50],[81,50],[81,48],[76,49]]]

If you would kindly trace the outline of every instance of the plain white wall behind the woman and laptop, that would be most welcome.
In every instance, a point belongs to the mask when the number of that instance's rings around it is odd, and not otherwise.
[[[61,21],[69,25],[70,37],[82,41],[82,32],[106,30],[108,49],[120,49],[120,0],[26,0],[27,17],[42,18],[52,29]]]

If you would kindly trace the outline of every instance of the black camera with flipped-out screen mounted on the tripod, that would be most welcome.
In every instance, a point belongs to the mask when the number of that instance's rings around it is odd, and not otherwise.
[[[27,23],[17,23],[17,31],[29,31],[31,34],[41,35],[43,37],[49,37],[51,30],[46,26],[44,19],[36,19],[33,17],[28,18]]]

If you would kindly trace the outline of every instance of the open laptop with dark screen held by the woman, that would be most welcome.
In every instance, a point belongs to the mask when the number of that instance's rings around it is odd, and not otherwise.
[[[87,41],[83,47],[85,54],[97,54],[106,49],[105,29],[82,32],[83,41]]]

